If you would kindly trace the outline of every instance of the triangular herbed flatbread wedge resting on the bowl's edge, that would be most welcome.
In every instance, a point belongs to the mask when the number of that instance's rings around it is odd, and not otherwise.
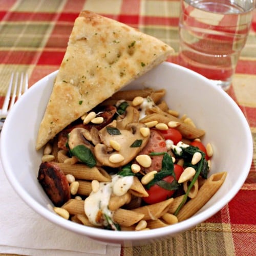
[[[76,18],[36,141],[37,150],[97,104],[164,61],[173,49],[90,11]]]

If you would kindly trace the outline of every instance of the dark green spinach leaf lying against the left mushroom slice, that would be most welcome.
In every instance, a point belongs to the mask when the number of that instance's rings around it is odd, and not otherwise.
[[[96,160],[90,148],[84,145],[77,145],[70,150],[73,156],[76,156],[80,161],[88,165],[90,168],[96,165]]]

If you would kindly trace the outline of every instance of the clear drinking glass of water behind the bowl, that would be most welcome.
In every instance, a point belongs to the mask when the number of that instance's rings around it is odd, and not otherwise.
[[[181,0],[181,65],[227,90],[245,45],[253,0]]]

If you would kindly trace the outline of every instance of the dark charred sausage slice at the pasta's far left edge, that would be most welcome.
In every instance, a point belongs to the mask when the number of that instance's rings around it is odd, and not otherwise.
[[[71,198],[67,178],[56,164],[41,163],[37,179],[55,206],[60,207]]]

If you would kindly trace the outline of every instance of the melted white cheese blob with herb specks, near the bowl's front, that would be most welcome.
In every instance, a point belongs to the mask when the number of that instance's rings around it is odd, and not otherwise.
[[[109,210],[108,205],[111,195],[124,195],[133,184],[133,176],[113,175],[110,182],[100,182],[99,190],[91,192],[89,197],[84,201],[84,212],[89,221],[97,226],[104,223],[97,222],[98,212],[107,215],[112,219],[113,212]]]

